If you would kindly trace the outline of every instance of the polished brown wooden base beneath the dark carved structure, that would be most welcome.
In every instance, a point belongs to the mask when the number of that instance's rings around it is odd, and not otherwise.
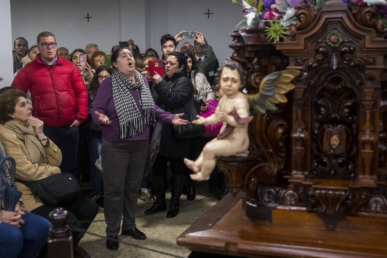
[[[245,257],[387,257],[386,215],[347,216],[327,231],[317,214],[279,206],[272,224],[254,222],[242,210],[242,196],[225,196],[178,237],[178,245]]]

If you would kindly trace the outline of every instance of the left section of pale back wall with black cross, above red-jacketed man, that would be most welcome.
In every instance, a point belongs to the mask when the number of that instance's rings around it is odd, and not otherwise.
[[[29,46],[36,44],[36,37],[42,31],[52,32],[58,48],[68,48],[70,53],[89,43],[110,52],[120,41],[120,0],[98,1],[98,5],[92,0],[10,2],[12,38],[24,37]],[[83,18],[87,13],[92,16],[90,22]]]

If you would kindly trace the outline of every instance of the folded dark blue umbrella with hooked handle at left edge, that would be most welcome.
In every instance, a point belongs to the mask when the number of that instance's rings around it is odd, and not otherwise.
[[[15,211],[15,206],[19,202],[20,197],[22,196],[22,193],[18,191],[15,187],[15,171],[16,171],[16,162],[13,157],[5,156],[2,159],[0,159],[0,168],[3,167],[3,164],[5,161],[9,160],[12,164],[11,167],[11,185],[8,185],[5,191],[3,191],[3,199],[4,199],[4,205],[5,210],[8,212]],[[2,173],[4,174],[5,171],[2,169]]]

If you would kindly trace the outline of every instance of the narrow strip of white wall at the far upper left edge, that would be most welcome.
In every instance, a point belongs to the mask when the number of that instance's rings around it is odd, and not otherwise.
[[[9,0],[0,0],[0,24],[2,39],[0,40],[0,87],[10,86],[14,79],[12,66],[12,49],[14,41],[11,34],[11,12]],[[12,46],[12,47],[11,47]]]

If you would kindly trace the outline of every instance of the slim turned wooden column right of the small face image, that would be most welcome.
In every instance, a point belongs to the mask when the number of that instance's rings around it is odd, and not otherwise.
[[[361,142],[361,155],[363,156],[364,174],[359,175],[361,185],[375,185],[375,181],[371,178],[370,168],[373,158],[374,144],[377,142],[377,136],[373,133],[373,126],[371,124],[371,109],[374,104],[373,100],[363,100],[365,108],[365,123],[363,125],[363,133],[359,135],[359,142]]]

